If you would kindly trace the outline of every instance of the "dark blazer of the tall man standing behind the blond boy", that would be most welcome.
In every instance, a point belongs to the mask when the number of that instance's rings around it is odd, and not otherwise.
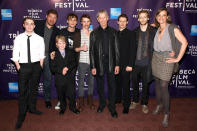
[[[46,20],[35,21],[36,27],[34,29],[34,32],[36,34],[40,35],[43,38],[44,38],[45,23],[46,23]],[[55,44],[56,43],[55,38],[56,38],[57,35],[59,35],[59,33],[60,33],[60,30],[56,26],[53,26],[53,32],[51,34],[50,43],[49,43],[49,53],[51,53],[52,51],[57,50],[56,44]]]

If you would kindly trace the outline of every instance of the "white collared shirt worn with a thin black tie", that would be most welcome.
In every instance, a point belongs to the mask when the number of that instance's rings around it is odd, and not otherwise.
[[[18,61],[19,63],[28,63],[27,38],[28,34],[26,32],[21,33],[15,38],[11,60]],[[32,33],[30,37],[31,62],[38,62],[41,59],[44,59],[44,53],[44,39],[41,36]]]

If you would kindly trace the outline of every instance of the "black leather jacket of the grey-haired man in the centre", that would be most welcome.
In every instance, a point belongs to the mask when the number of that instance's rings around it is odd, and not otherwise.
[[[97,75],[104,74],[103,61],[103,39],[102,28],[99,26],[90,34],[90,67],[96,68]],[[107,27],[108,44],[109,44],[109,72],[114,72],[115,66],[119,66],[119,44],[117,31],[112,27]]]

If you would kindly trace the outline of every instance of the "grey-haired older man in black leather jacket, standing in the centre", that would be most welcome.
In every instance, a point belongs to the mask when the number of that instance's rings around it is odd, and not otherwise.
[[[90,34],[90,67],[92,74],[96,75],[97,90],[99,94],[98,113],[103,112],[106,106],[104,79],[106,76],[108,83],[108,109],[111,116],[118,117],[115,107],[115,75],[119,73],[119,50],[117,31],[108,26],[109,16],[107,11],[100,10],[97,14],[97,20],[100,24]]]

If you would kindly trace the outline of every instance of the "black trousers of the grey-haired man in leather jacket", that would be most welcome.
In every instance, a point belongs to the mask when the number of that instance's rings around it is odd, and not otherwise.
[[[107,79],[107,86],[108,86],[108,109],[110,112],[116,111],[115,106],[115,95],[116,95],[116,84],[115,84],[115,75],[114,72],[109,72],[105,70],[105,75],[103,76],[96,76],[97,80],[97,91],[99,95],[99,107],[104,108],[106,106],[106,99],[105,99],[105,76]]]

